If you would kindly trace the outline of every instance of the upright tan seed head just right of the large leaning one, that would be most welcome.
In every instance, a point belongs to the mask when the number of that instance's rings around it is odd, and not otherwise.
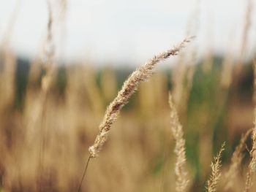
[[[186,191],[189,180],[187,178],[186,169],[186,152],[185,152],[185,139],[184,131],[182,130],[181,123],[178,120],[178,113],[176,107],[173,104],[173,99],[169,93],[169,106],[170,106],[170,126],[173,132],[176,145],[174,153],[176,153],[176,191]]]

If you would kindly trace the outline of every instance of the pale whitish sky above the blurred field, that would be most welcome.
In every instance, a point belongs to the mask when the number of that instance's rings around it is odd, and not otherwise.
[[[61,22],[59,0],[50,1],[56,58],[135,65],[187,35],[196,35],[194,44],[199,56],[209,50],[218,54],[229,50],[237,55],[247,3],[247,0],[67,0]],[[256,7],[256,0],[252,1]],[[46,37],[46,1],[0,0],[0,5],[0,43],[9,37],[10,46],[18,55],[29,58],[38,55]],[[196,23],[195,18],[198,18]],[[188,34],[188,23],[193,19]],[[251,52],[256,42],[255,29],[253,13],[248,39]]]

